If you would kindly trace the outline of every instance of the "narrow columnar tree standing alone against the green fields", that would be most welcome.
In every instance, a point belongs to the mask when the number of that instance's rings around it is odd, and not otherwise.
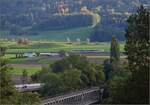
[[[119,61],[120,60],[120,49],[119,49],[119,43],[116,39],[116,37],[112,37],[111,41],[111,49],[110,49],[110,59],[111,62],[113,61]]]

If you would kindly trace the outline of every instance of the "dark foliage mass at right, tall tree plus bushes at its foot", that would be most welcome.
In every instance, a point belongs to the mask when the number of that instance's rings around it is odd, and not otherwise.
[[[149,15],[141,6],[127,20],[125,50],[128,56],[127,76],[115,75],[109,83],[109,98],[106,103],[149,103]],[[120,72],[123,73],[123,70]],[[118,74],[118,73],[117,73]]]

